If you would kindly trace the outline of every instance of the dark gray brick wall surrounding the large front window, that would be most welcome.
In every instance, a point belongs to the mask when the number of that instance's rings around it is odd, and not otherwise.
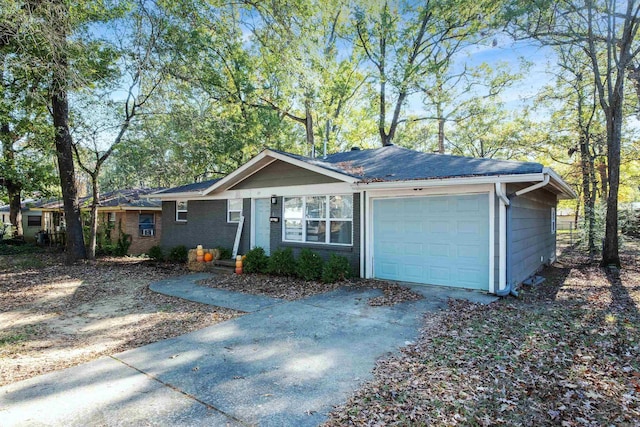
[[[346,257],[351,263],[354,275],[360,277],[360,194],[353,194],[353,245],[319,245],[313,243],[293,243],[282,241],[282,197],[278,197],[278,204],[271,205],[271,216],[280,218],[280,222],[271,223],[271,253],[277,249],[291,248],[295,256],[304,248],[318,253],[325,260],[335,253]]]

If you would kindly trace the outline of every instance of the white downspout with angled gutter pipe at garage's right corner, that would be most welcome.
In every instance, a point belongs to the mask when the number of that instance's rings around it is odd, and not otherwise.
[[[499,297],[506,297],[507,295],[513,295],[514,297],[518,296],[518,291],[515,289],[513,282],[511,280],[511,270],[512,270],[512,260],[511,253],[509,248],[511,247],[511,233],[507,233],[508,227],[511,224],[511,201],[518,196],[529,193],[531,191],[538,190],[549,184],[551,179],[551,174],[549,172],[553,172],[550,169],[545,168],[544,177],[541,182],[530,185],[529,187],[525,187],[521,190],[516,191],[512,195],[507,195],[502,190],[503,183],[496,182],[496,195],[500,200],[499,206],[499,256],[500,256],[500,264],[499,264],[499,279],[498,279],[498,290],[496,291],[496,295]]]

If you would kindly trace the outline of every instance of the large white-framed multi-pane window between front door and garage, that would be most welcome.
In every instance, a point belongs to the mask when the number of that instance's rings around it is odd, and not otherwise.
[[[352,195],[285,197],[283,205],[283,241],[353,244]]]

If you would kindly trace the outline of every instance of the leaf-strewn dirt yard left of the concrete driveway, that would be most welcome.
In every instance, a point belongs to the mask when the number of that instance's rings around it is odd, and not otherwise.
[[[0,386],[242,314],[148,289],[186,273],[135,258],[66,266],[57,253],[0,255]]]

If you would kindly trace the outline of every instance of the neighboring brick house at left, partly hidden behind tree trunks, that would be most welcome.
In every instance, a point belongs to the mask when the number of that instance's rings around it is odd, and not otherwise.
[[[98,232],[109,232],[115,242],[121,231],[131,236],[129,254],[146,253],[152,246],[160,244],[162,235],[162,207],[160,201],[144,196],[158,188],[134,188],[116,190],[100,196],[98,207]],[[80,199],[80,207],[85,221],[91,209],[91,197]],[[62,201],[42,205],[44,229],[49,233],[64,229],[64,208]]]

